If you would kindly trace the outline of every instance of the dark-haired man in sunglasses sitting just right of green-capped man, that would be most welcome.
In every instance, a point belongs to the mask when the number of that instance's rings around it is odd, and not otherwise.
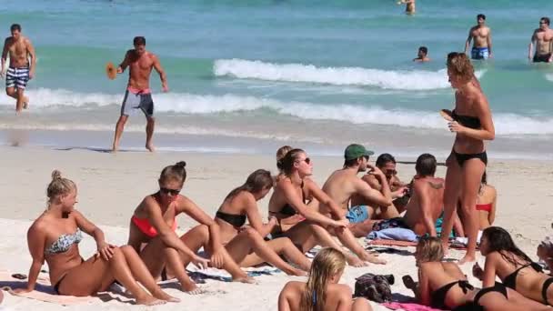
[[[409,198],[407,187],[397,177],[396,159],[390,154],[382,154],[377,157],[377,168],[384,173],[384,176],[386,176],[384,181],[381,182],[377,176],[372,174],[372,172],[369,172],[361,179],[365,181],[368,186],[382,193],[384,184],[387,184],[391,191],[392,200],[394,200],[392,205],[379,206],[377,205],[377,202],[369,200],[366,197],[356,195],[351,199],[351,206],[371,206],[372,213],[370,216],[373,219],[389,219],[397,217],[405,210],[405,206],[407,206]]]

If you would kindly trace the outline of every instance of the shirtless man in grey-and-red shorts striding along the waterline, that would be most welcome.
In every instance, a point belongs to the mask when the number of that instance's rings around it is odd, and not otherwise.
[[[146,115],[146,149],[154,151],[152,137],[154,135],[154,101],[150,92],[150,74],[152,68],[156,69],[161,79],[161,86],[164,92],[169,90],[167,86],[166,73],[164,72],[159,59],[153,53],[146,51],[146,38],[136,36],[133,40],[135,48],[126,51],[125,59],[117,67],[117,74],[125,72],[129,67],[128,84],[126,85],[125,98],[121,105],[121,115],[117,120],[116,135],[112,150],[119,148],[119,140],[123,134],[126,120],[131,113],[141,110]]]

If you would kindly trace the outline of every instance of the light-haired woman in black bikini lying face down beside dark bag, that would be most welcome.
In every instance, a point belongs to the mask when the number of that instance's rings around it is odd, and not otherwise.
[[[422,305],[454,311],[546,309],[499,283],[475,289],[456,263],[442,262],[444,249],[437,237],[422,237],[415,257],[418,283],[404,276],[404,284]]]

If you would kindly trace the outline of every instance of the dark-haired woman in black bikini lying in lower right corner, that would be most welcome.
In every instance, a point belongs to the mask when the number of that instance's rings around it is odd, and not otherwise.
[[[529,299],[549,305],[553,303],[553,277],[542,272],[513,242],[508,232],[498,226],[490,226],[482,233],[480,252],[486,256],[484,271],[475,267],[483,286],[491,286],[499,276],[505,286]]]

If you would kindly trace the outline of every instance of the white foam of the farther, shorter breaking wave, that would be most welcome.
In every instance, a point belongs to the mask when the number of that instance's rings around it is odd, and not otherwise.
[[[397,90],[432,90],[449,87],[447,71],[381,70],[361,67],[317,67],[304,64],[273,64],[244,59],[216,60],[216,76],[267,81],[327,85],[367,85]],[[483,71],[477,76],[483,75]]]

